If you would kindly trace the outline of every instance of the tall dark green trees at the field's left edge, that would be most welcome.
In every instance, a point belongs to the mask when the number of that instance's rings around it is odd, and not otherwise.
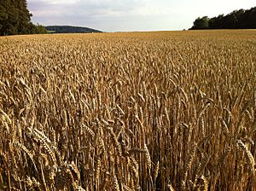
[[[0,0],[0,35],[46,33],[44,26],[31,21],[26,0]]]

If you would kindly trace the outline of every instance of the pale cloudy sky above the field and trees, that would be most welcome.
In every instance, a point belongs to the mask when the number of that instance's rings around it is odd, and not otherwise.
[[[202,16],[251,9],[255,0],[27,0],[32,22],[103,32],[189,29]]]

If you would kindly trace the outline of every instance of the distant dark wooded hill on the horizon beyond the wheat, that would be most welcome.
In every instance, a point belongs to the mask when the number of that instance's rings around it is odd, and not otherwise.
[[[92,28],[82,26],[45,26],[51,33],[92,33],[101,32]]]

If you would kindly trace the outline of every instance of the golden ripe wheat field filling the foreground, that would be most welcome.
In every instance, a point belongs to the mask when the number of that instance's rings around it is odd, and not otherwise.
[[[256,31],[0,38],[0,190],[256,190]]]

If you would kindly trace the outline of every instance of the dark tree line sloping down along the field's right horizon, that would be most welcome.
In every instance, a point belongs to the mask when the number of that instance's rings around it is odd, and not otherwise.
[[[191,29],[256,29],[256,7],[234,10],[230,14],[219,14],[212,18],[199,17]]]

